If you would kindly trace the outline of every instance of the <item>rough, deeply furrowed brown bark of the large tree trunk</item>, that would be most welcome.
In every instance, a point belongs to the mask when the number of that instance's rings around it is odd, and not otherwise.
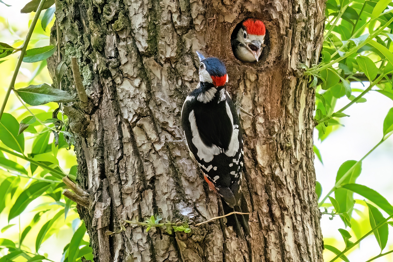
[[[77,57],[88,104],[65,107],[75,134],[79,206],[95,261],[323,261],[315,194],[314,90],[299,63],[318,62],[323,0],[57,0],[61,57]],[[263,59],[235,59],[230,35],[247,17],[265,21]],[[56,41],[56,27],[51,42]],[[191,161],[180,127],[186,95],[198,83],[195,50],[224,60],[233,97],[244,92],[243,190],[251,238],[218,220],[188,235],[126,225],[217,216],[217,196]],[[53,73],[57,55],[48,60]],[[68,70],[63,88],[75,96]],[[224,235],[226,237],[224,237]]]

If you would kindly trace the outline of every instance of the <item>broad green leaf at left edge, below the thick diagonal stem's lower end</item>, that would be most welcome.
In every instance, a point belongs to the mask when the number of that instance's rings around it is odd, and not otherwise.
[[[7,147],[23,153],[24,136],[18,135],[19,123],[11,114],[4,113],[0,120],[0,140]]]

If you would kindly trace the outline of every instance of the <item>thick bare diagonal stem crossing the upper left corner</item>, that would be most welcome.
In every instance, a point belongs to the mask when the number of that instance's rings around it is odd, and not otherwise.
[[[0,109],[0,120],[1,120],[1,117],[2,117],[2,115],[4,113],[4,109],[6,108],[6,104],[7,104],[8,98],[9,98],[9,94],[11,93],[11,90],[14,88],[15,81],[17,80],[17,75],[19,73],[20,65],[22,64],[23,57],[26,54],[26,49],[27,49],[27,46],[29,44],[31,35],[33,35],[35,24],[37,24],[37,20],[38,20],[38,18],[40,16],[40,13],[41,13],[42,9],[44,8],[45,2],[46,2],[46,0],[41,0],[40,5],[38,6],[37,12],[35,12],[33,21],[31,22],[31,25],[29,27],[29,31],[27,33],[26,39],[24,40],[24,42],[22,44],[22,48],[20,49],[20,55],[19,55],[19,59],[18,59],[18,62],[17,62],[17,66],[15,66],[14,74],[12,76],[11,82],[9,83],[9,87],[8,87],[6,96],[4,97],[4,102],[3,102],[2,106],[1,106],[1,109]]]

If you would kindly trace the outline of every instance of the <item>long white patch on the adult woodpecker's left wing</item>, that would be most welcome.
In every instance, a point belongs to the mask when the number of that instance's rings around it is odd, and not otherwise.
[[[205,162],[208,163],[211,160],[213,160],[215,155],[220,154],[221,149],[219,147],[217,147],[216,145],[213,145],[213,147],[208,147],[207,145],[205,145],[202,142],[202,139],[200,138],[200,135],[198,132],[198,128],[196,127],[196,119],[195,119],[194,110],[191,110],[188,120],[190,121],[190,124],[191,124],[191,132],[193,133],[192,141],[193,141],[193,144],[195,145],[196,149],[198,150],[198,152],[196,152],[196,155],[198,156],[198,158],[200,160],[203,159]],[[238,144],[239,144],[239,141],[238,141]]]

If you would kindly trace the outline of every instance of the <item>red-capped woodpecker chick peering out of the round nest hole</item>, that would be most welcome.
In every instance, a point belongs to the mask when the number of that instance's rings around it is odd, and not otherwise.
[[[233,29],[231,46],[233,55],[242,62],[255,62],[265,46],[266,28],[261,20],[248,18]]]

